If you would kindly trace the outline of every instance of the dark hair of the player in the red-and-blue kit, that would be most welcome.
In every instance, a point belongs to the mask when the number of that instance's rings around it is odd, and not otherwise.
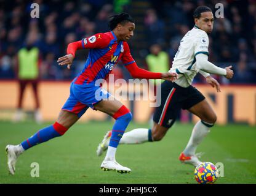
[[[127,22],[135,23],[134,18],[132,18],[128,13],[122,12],[120,14],[110,15],[111,20],[108,22],[108,26],[110,26],[110,30],[113,31],[116,26],[121,23],[124,25]]]

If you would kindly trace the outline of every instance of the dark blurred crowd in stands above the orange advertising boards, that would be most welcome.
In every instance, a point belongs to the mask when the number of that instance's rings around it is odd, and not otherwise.
[[[39,18],[31,18],[30,5],[39,4]],[[28,40],[38,47],[39,78],[41,80],[71,80],[81,71],[88,50],[77,52],[71,70],[60,67],[57,58],[66,54],[68,43],[108,31],[111,13],[128,12],[136,20],[132,9],[135,2],[129,0],[87,1],[1,1],[0,0],[0,79],[17,78],[17,53],[26,47]],[[234,78],[230,83],[256,83],[256,1],[146,1],[142,31],[146,45],[144,53],[136,56],[146,62],[151,45],[158,44],[169,55],[169,64],[177,51],[182,37],[194,26],[193,10],[206,5],[224,6],[224,18],[215,18],[214,31],[209,36],[209,60],[220,67],[232,65]],[[132,54],[136,42],[130,43]],[[148,67],[145,64],[139,66]],[[118,77],[129,78],[119,67]],[[218,78],[221,83],[229,81]],[[194,82],[204,83],[200,75]]]

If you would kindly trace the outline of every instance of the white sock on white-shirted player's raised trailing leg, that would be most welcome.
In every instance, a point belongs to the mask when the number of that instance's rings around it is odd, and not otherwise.
[[[150,135],[151,137],[151,135]],[[122,135],[122,138],[119,143],[122,144],[136,144],[136,143],[143,143],[148,141],[148,129],[145,128],[138,128],[130,130],[127,133]]]

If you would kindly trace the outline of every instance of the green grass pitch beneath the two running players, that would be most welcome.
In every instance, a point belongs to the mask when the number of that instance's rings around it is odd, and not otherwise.
[[[33,122],[0,122],[0,183],[196,183],[194,167],[181,164],[179,154],[185,148],[193,124],[176,123],[162,141],[140,145],[119,145],[118,162],[132,169],[130,174],[102,171],[105,156],[96,149],[113,121],[77,123],[62,137],[28,149],[19,157],[14,176],[7,171],[7,144],[18,144],[38,129],[48,126]],[[148,124],[130,123],[127,131]],[[214,126],[198,147],[202,161],[222,162],[222,183],[256,183],[256,127],[229,124]],[[39,178],[32,178],[31,163],[39,164]]]

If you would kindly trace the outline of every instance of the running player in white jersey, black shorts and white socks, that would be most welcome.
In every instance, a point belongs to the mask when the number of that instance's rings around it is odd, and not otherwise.
[[[180,47],[175,55],[170,72],[176,72],[178,79],[175,82],[164,81],[161,85],[161,105],[156,108],[153,116],[152,129],[134,129],[126,132],[120,144],[137,144],[146,141],[159,141],[167,130],[172,127],[180,109],[188,110],[198,116],[200,120],[195,124],[186,148],[180,154],[180,161],[196,167],[201,161],[196,155],[196,148],[214,126],[217,116],[210,107],[206,98],[191,86],[193,78],[199,72],[207,83],[220,92],[218,81],[210,74],[223,75],[230,79],[233,77],[231,66],[222,69],[208,61],[208,34],[212,32],[214,15],[206,6],[194,10],[194,28],[186,33],[180,41]],[[97,155],[100,156],[108,147],[111,132],[107,132],[98,145]]]

